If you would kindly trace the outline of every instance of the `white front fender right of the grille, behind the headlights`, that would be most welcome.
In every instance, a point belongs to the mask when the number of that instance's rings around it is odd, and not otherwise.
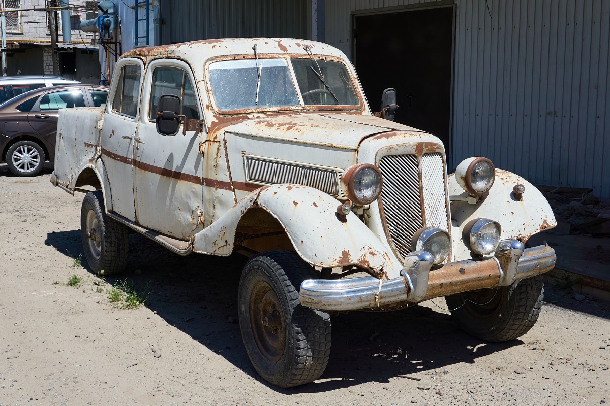
[[[501,240],[518,239],[523,243],[534,234],[557,225],[547,199],[533,184],[507,170],[496,169],[495,172],[493,186],[484,194],[483,200],[476,204],[451,201],[454,261],[470,259],[470,251],[462,242],[462,231],[470,220],[481,217],[495,220],[502,227]],[[448,181],[450,196],[468,195],[456,181],[455,173],[449,175]],[[512,191],[517,184],[525,186],[520,198]]]

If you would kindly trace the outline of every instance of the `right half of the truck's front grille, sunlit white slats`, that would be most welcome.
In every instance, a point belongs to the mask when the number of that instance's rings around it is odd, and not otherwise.
[[[447,198],[445,197],[445,165],[440,153],[422,156],[423,209],[426,226],[449,231]]]

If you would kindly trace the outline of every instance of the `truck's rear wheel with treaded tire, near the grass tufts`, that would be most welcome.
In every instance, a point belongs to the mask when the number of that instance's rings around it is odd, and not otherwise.
[[[81,236],[91,271],[112,275],[124,271],[129,253],[127,227],[110,219],[102,191],[88,192],[81,206]]]

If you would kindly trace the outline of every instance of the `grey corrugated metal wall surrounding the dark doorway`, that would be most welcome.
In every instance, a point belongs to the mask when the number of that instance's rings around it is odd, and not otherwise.
[[[326,1],[325,41],[350,55],[352,12],[417,3]],[[453,166],[610,198],[610,1],[456,0],[456,19]]]

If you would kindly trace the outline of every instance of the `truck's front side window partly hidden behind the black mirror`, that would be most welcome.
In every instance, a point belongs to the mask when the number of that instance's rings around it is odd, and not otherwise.
[[[199,119],[195,89],[187,73],[180,68],[161,67],[152,72],[151,103],[148,117],[156,117],[159,98],[164,94],[173,94],[182,100],[182,111],[187,119]]]

